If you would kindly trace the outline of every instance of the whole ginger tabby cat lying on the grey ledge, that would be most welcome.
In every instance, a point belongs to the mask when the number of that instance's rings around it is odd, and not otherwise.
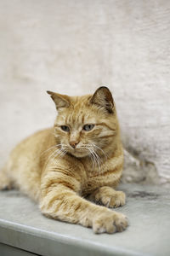
[[[47,92],[58,112],[54,127],[14,148],[0,172],[0,189],[20,189],[48,218],[82,224],[94,233],[125,230],[127,217],[110,209],[126,200],[115,190],[123,150],[111,91],[102,86],[86,96]]]

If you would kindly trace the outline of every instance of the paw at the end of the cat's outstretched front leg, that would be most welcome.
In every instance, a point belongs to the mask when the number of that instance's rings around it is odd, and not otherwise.
[[[103,212],[94,218],[93,230],[96,234],[122,232],[127,228],[127,217],[119,212]]]

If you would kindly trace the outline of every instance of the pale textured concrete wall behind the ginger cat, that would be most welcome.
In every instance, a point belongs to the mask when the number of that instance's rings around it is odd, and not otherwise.
[[[0,0],[0,165],[52,125],[45,90],[108,85],[126,151],[123,181],[170,182],[170,2]]]

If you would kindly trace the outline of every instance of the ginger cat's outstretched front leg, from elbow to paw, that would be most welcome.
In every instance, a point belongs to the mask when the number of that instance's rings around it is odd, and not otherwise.
[[[53,181],[47,177],[45,183],[42,180],[40,209],[44,215],[92,227],[95,233],[114,233],[127,228],[126,216],[86,201],[75,191],[77,181],[68,182],[69,179],[62,175]]]

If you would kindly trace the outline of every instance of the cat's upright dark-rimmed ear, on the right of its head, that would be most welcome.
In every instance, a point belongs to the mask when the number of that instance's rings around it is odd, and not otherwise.
[[[109,113],[113,113],[114,101],[111,95],[111,91],[105,87],[99,87],[92,96],[91,103],[98,105],[99,107],[105,108]]]

